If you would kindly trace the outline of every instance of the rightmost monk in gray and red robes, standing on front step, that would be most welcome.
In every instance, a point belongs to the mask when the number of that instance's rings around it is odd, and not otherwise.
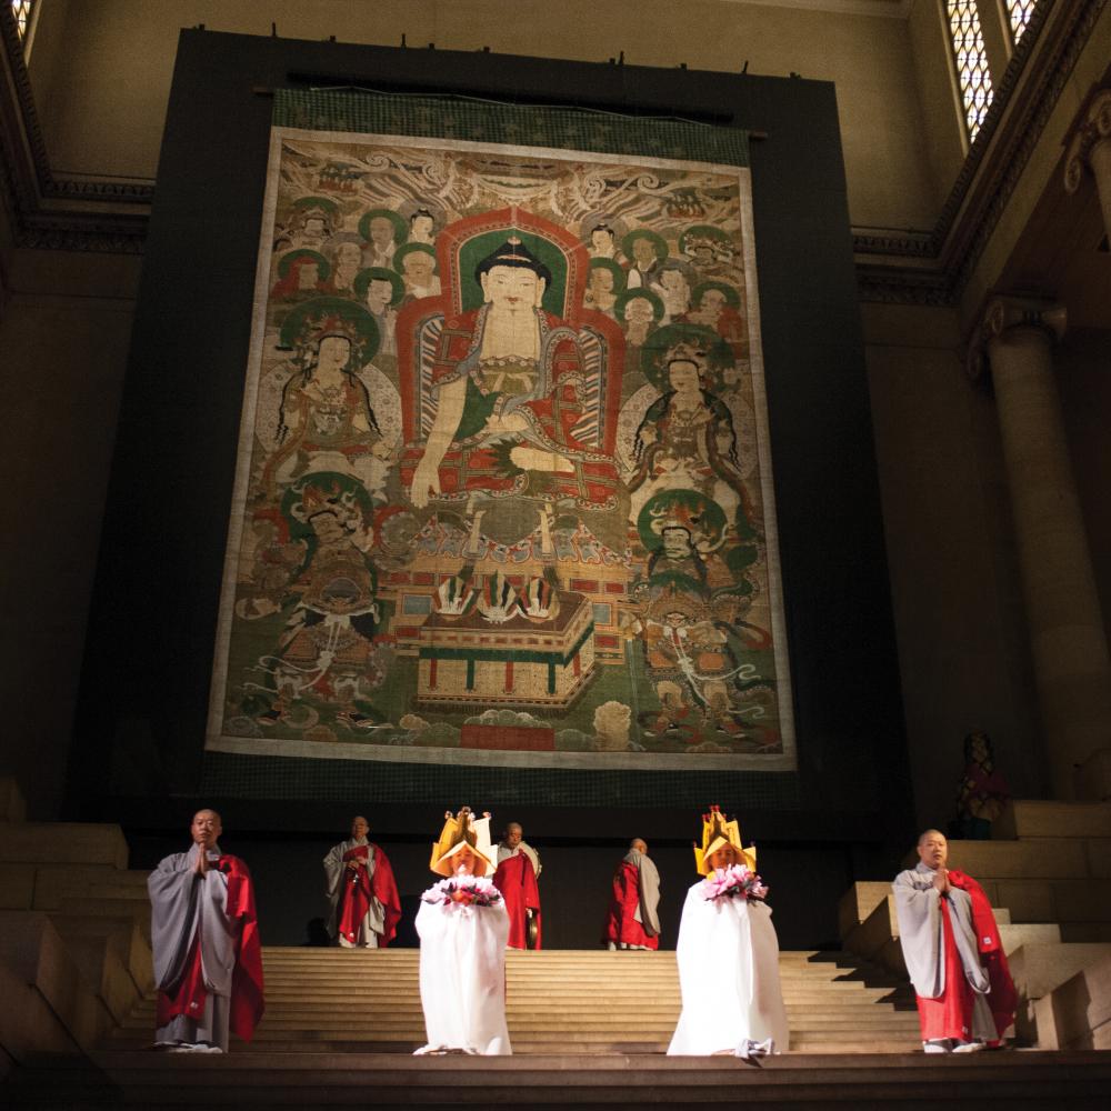
[[[938,830],[918,839],[914,868],[893,884],[903,960],[918,995],[927,1053],[974,1053],[1000,1044],[1017,997],[983,888],[947,869]]]

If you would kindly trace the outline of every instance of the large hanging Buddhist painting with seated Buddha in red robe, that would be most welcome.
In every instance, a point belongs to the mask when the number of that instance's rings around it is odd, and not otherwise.
[[[210,749],[794,767],[748,170],[273,130]]]

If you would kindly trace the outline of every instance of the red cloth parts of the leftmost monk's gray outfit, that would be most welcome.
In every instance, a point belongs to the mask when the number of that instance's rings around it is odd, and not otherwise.
[[[212,867],[212,865],[210,865]],[[239,922],[236,932],[236,969],[231,978],[232,1033],[250,1041],[264,1010],[262,999],[262,944],[259,941],[259,922],[254,912],[254,890],[251,873],[238,858],[224,854],[214,864],[228,877],[228,901],[224,913]],[[171,1019],[186,1014],[199,1020],[208,1002],[204,972],[201,965],[201,931],[198,924],[193,934],[186,970],[176,988],[158,993],[158,1024],[167,1025]]]

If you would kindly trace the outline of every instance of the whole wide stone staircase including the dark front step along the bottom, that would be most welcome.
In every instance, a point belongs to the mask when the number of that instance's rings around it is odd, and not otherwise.
[[[907,987],[839,953],[782,953],[792,1049],[745,1063],[668,1058],[673,953],[510,952],[511,1058],[414,1058],[423,1042],[414,950],[266,949],[267,1014],[226,1057],[150,1052],[151,999],[101,1049],[30,1062],[13,1109],[460,1107],[867,1111],[1105,1105],[1111,1055],[928,1058]],[[4,1093],[0,1091],[0,1097]]]

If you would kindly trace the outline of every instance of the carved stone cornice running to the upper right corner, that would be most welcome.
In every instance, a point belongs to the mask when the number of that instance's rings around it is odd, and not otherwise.
[[[945,303],[957,303],[1107,2],[1042,0],[1034,9],[933,229],[854,233],[862,301],[935,303],[920,296],[924,261],[931,290],[948,290]]]

